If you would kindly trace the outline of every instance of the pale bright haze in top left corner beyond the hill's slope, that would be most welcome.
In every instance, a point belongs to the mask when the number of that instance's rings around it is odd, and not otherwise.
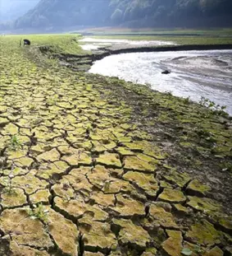
[[[0,21],[12,21],[33,8],[39,0],[0,0]]]

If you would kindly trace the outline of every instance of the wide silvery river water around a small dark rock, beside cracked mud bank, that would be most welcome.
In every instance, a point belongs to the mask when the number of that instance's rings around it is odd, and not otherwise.
[[[171,74],[161,74],[164,70]],[[232,115],[232,50],[175,51],[111,55],[89,72],[119,77],[193,101],[205,97]]]

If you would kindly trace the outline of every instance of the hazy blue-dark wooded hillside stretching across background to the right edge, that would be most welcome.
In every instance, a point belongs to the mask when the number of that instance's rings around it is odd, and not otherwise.
[[[231,26],[231,13],[231,0],[41,0],[15,26]]]

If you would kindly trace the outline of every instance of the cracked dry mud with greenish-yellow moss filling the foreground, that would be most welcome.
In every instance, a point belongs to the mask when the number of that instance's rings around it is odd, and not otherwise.
[[[0,255],[232,254],[230,119],[1,40]]]

